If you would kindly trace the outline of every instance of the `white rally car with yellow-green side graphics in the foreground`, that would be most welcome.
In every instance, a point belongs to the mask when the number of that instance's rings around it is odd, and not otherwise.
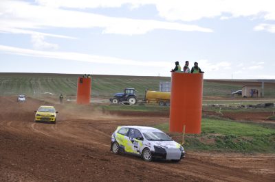
[[[118,127],[111,135],[111,151],[137,155],[145,161],[180,161],[185,155],[184,148],[166,133],[153,127],[139,126]]]

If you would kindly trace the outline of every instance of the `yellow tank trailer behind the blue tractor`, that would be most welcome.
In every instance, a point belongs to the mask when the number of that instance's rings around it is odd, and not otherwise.
[[[146,92],[146,101],[150,103],[151,101],[155,101],[159,103],[159,105],[170,105],[170,92],[157,92],[157,91],[147,91]]]

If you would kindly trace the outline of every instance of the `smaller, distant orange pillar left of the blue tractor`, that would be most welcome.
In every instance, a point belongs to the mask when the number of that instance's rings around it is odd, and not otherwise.
[[[89,104],[91,97],[91,78],[78,77],[76,103]]]

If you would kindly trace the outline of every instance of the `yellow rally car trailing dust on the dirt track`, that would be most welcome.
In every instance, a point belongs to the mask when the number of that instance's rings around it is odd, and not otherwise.
[[[41,105],[35,114],[34,122],[47,121],[56,124],[56,109],[54,106]]]

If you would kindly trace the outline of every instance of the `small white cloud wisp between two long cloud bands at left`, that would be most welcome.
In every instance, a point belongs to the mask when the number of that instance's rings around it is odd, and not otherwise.
[[[44,36],[39,34],[32,35],[32,44],[34,49],[38,50],[57,50],[58,44],[51,44],[44,41]]]

